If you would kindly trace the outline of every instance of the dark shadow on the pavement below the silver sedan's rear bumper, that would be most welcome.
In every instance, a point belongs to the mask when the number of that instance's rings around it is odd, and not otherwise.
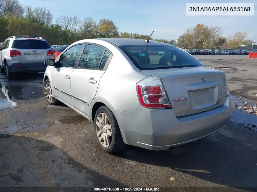
[[[172,170],[223,186],[256,187],[255,132],[247,130],[249,133],[244,135],[243,132],[239,132],[240,130],[234,129],[232,123],[222,131],[165,151],[151,151],[127,146],[124,152],[116,156],[140,163],[169,167]],[[255,134],[255,136],[250,136],[250,134]],[[245,141],[246,138],[248,141]]]

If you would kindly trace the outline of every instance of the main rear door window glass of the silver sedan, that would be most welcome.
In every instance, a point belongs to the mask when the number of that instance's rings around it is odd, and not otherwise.
[[[99,69],[105,49],[96,45],[86,45],[78,63],[79,68]]]

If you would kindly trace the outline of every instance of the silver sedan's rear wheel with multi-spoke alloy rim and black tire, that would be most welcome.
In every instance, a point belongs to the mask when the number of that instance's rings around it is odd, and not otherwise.
[[[97,143],[105,152],[116,153],[126,146],[123,142],[118,122],[107,106],[101,106],[97,109],[94,128]]]

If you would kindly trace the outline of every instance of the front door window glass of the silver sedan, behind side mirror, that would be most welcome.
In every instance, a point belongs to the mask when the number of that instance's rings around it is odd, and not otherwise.
[[[75,45],[63,52],[59,59],[61,67],[74,67],[83,46],[84,44]]]

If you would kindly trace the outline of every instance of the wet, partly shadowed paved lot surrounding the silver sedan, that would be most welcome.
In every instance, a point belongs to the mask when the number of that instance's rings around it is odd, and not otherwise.
[[[234,93],[257,93],[257,59],[195,57],[225,71]],[[250,127],[257,124],[255,115],[235,108],[227,127],[204,139],[166,151],[127,146],[110,155],[98,147],[92,123],[65,105],[47,105],[42,78],[43,74],[31,74],[8,81],[0,74],[0,88],[8,90],[9,98],[7,103],[1,92],[1,187],[257,187],[257,132]],[[257,96],[247,93],[234,96],[233,102],[255,105]],[[241,124],[244,120],[251,121],[250,126]]]

